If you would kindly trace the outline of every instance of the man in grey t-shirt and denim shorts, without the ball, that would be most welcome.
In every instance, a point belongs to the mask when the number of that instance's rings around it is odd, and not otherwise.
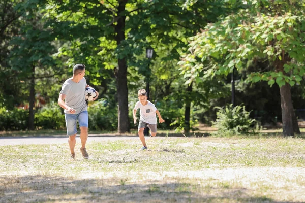
[[[86,150],[86,142],[88,138],[88,111],[87,103],[85,101],[85,88],[90,87],[86,83],[84,64],[76,64],[73,67],[73,76],[65,81],[62,90],[59,93],[58,105],[65,109],[65,119],[67,126],[67,134],[69,136],[68,143],[71,151],[71,158],[75,158],[75,144],[76,144],[76,124],[77,121],[80,127],[80,151],[82,156],[87,159],[89,154]],[[96,100],[99,96],[93,99]],[[64,101],[65,100],[65,101]]]

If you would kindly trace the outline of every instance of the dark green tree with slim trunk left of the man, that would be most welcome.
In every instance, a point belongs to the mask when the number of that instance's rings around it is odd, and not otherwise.
[[[16,5],[15,9],[21,14],[21,27],[18,35],[10,41],[13,47],[10,51],[9,63],[29,88],[29,126],[34,129],[35,116],[35,79],[53,77],[60,73],[56,69],[56,53],[52,45],[54,35],[44,27],[41,13],[36,2],[25,2]]]

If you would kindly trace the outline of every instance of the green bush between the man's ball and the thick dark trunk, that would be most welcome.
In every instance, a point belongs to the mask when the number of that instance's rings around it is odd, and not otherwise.
[[[111,130],[117,129],[117,108],[111,106],[105,99],[89,103],[89,129]]]

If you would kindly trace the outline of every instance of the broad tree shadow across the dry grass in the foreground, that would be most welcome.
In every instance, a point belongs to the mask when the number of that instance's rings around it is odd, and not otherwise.
[[[245,188],[125,179],[72,179],[53,176],[0,177],[0,202],[278,202],[250,196]],[[288,201],[285,201],[288,202]]]

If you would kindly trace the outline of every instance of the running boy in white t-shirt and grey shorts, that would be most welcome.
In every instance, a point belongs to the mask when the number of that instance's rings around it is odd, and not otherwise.
[[[145,137],[144,137],[144,129],[148,127],[150,129],[150,137],[155,137],[157,134],[157,117],[159,118],[159,123],[163,123],[164,120],[160,115],[160,112],[155,107],[153,103],[147,100],[147,93],[145,89],[140,89],[138,91],[138,98],[139,101],[137,101],[135,108],[133,110],[133,118],[134,123],[137,122],[136,113],[137,110],[140,108],[140,121],[139,121],[139,127],[138,127],[138,133],[140,140],[143,144],[143,147],[140,150],[147,149],[146,143],[145,143]]]

